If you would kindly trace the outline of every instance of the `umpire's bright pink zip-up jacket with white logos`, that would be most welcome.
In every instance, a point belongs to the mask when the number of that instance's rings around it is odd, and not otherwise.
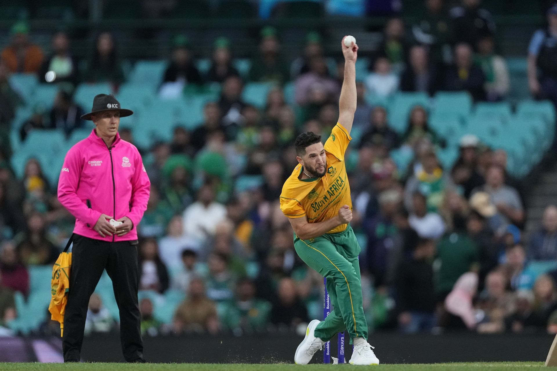
[[[120,139],[109,149],[95,129],[66,154],[58,199],[75,216],[74,233],[102,241],[137,240],[137,226],[147,208],[149,177],[135,146]],[[106,214],[119,219],[127,216],[133,228],[122,237],[101,237],[93,230]]]

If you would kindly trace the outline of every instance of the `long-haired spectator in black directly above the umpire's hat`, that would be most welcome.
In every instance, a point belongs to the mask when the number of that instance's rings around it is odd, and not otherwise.
[[[101,32],[97,36],[95,50],[87,64],[84,80],[86,82],[110,82],[113,85],[120,85],[124,82],[124,70],[111,33]]]

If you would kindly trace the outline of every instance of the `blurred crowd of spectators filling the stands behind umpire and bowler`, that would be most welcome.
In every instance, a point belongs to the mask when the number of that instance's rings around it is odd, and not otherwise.
[[[427,107],[411,110],[402,134],[389,122],[382,102],[399,91],[467,91],[475,101],[495,102],[510,89],[505,59],[496,53],[495,23],[480,0],[450,9],[442,0],[426,0],[423,10],[413,25],[388,19],[383,42],[367,56],[370,71],[357,76],[354,129],[360,135],[350,144],[346,168],[368,324],[404,333],[555,333],[557,266],[540,274],[532,264],[557,260],[557,207],[549,205],[543,223],[526,235],[526,186],[507,173],[505,150],[470,133],[457,140],[455,164],[443,167],[438,151],[447,138],[428,124]],[[535,33],[528,50],[529,87],[557,104],[557,8],[547,16],[548,30]],[[28,120],[17,128],[23,141],[42,129],[67,136],[92,129],[79,118],[87,107],[72,99],[75,87],[110,82],[118,94],[126,81],[109,32],[99,34],[85,64],[72,56],[65,32],[52,35],[50,52],[33,43],[25,23],[12,28],[12,37],[0,59],[3,132],[13,129],[14,112],[27,104],[11,86],[11,74],[37,74],[41,84],[60,86],[51,110],[28,107]],[[316,32],[290,61],[277,30],[264,28],[247,75],[234,67],[233,49],[227,38],[215,40],[211,66],[202,72],[195,46],[177,36],[158,82],[162,99],[186,99],[184,91],[215,85],[220,95],[204,106],[196,128],[177,126],[172,140],[139,148],[152,182],[138,226],[141,329],[147,335],[296,329],[323,314],[323,279],[297,257],[278,196],[297,164],[296,135],[314,131],[327,138],[338,119],[343,63],[328,64]],[[246,82],[276,83],[263,109],[242,100]],[[282,89],[287,82],[294,82],[289,103]],[[120,135],[134,143],[133,128]],[[13,292],[32,295],[29,271],[55,262],[75,221],[57,201],[56,184],[40,161],[29,159],[17,178],[9,148],[2,143],[0,153],[0,326],[8,328],[18,315]],[[393,149],[412,154],[408,168],[389,157]],[[239,187],[240,175],[262,181]],[[117,327],[104,299],[91,296],[87,333]],[[164,323],[157,311],[171,299],[176,305]],[[40,331],[58,330],[47,320]]]

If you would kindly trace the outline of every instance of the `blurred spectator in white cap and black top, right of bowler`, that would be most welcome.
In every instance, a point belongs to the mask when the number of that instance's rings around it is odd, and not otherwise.
[[[485,183],[485,179],[477,170],[478,144],[480,144],[480,140],[476,135],[463,136],[460,140],[460,155],[451,171],[453,182],[463,188],[463,194],[466,198],[470,197],[474,188]]]

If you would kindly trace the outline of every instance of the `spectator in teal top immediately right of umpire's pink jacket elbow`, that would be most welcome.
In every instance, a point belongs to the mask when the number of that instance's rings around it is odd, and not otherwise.
[[[159,189],[151,186],[149,202],[143,218],[138,225],[140,237],[160,238],[164,235],[165,227],[172,218],[173,210],[166,201],[160,200]]]

